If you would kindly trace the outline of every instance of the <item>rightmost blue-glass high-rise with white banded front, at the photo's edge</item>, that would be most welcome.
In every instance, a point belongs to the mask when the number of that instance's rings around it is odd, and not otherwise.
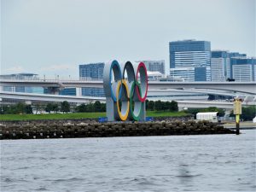
[[[233,57],[230,58],[231,79],[241,82],[255,81],[255,58]]]

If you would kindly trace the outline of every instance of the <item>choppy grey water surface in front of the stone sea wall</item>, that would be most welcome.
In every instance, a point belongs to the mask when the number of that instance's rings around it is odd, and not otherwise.
[[[255,191],[242,133],[1,141],[1,191]]]

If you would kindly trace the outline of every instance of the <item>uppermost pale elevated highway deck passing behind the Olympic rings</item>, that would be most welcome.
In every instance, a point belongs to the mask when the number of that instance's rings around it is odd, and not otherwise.
[[[63,89],[66,87],[95,87],[102,88],[102,81],[81,81],[81,80],[20,80],[0,79],[0,86],[34,86]],[[166,89],[211,89],[230,90],[241,93],[256,95],[255,82],[162,82],[148,81],[148,90]]]

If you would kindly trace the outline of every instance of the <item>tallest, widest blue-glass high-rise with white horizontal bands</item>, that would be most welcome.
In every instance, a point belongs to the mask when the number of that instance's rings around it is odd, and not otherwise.
[[[195,81],[211,81],[211,43],[183,40],[169,43],[170,67],[194,67]],[[190,72],[189,72],[190,73]]]

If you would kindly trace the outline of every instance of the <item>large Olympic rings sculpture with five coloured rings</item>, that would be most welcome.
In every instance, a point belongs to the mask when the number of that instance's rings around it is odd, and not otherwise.
[[[145,120],[148,73],[143,62],[132,65],[130,61],[119,64],[114,60],[106,63],[103,88],[108,121]]]

